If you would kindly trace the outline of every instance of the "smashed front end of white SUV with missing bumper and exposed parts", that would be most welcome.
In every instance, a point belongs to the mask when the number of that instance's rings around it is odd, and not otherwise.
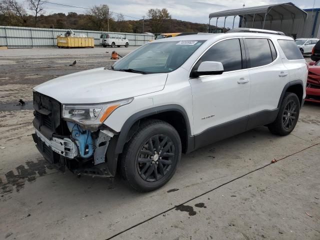
[[[57,100],[33,92],[36,147],[45,159],[64,171],[76,174],[113,177],[117,154],[117,133],[101,124],[116,104],[62,105]],[[110,106],[112,109],[110,110]],[[113,143],[112,143],[113,142]]]

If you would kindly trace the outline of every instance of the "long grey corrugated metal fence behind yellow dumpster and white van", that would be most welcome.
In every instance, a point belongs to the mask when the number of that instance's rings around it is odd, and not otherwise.
[[[0,46],[9,48],[19,47],[52,47],[56,46],[56,36],[64,34],[67,29],[56,28],[36,28],[36,27],[18,27],[18,26],[0,26]],[[73,29],[72,29],[73,30]],[[99,46],[101,31],[73,30],[76,35],[85,34],[94,38],[94,45]],[[129,45],[140,46],[154,39],[153,35],[135,34],[125,32],[105,32],[124,35],[129,40]]]

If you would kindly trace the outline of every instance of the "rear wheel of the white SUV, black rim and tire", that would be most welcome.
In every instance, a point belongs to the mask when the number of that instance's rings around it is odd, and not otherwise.
[[[285,136],[295,127],[299,117],[300,102],[295,93],[286,92],[275,120],[268,125],[271,133]]]

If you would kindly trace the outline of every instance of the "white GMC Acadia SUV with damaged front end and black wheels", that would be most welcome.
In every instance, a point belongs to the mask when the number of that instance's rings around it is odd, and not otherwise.
[[[159,39],[114,65],[34,87],[33,139],[60,169],[150,191],[182,153],[265,125],[290,133],[307,65],[290,37],[248,32]]]

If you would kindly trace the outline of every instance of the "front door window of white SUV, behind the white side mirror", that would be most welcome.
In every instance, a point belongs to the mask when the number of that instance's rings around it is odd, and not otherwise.
[[[223,64],[224,71],[242,69],[240,40],[227,39],[214,44],[203,54],[196,66],[202,61],[219,61]]]

